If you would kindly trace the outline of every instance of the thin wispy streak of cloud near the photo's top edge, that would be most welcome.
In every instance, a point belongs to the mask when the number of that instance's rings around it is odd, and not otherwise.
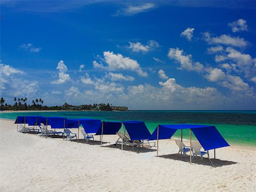
[[[155,5],[153,3],[145,3],[143,5],[138,5],[138,6],[127,6],[125,9],[118,10],[113,16],[119,16],[119,15],[126,15],[126,16],[131,16],[131,15],[136,15],[141,12],[147,12],[155,8]]]

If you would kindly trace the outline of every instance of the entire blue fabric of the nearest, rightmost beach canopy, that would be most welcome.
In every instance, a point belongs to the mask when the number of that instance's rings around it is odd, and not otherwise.
[[[170,139],[177,130],[191,128],[197,140],[202,145],[204,150],[228,147],[229,144],[218,132],[214,126],[191,125],[191,124],[174,124],[174,125],[159,125],[158,139]],[[157,139],[157,127],[152,133],[150,140]]]

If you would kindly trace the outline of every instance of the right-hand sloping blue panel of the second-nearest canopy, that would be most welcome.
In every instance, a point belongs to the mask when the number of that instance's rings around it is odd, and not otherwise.
[[[151,134],[148,131],[144,122],[127,121],[123,122],[131,140],[147,140],[150,139]]]

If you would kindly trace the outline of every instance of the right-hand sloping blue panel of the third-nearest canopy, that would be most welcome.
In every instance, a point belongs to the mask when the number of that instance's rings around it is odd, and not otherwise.
[[[96,133],[101,130],[101,120],[99,119],[80,119],[80,124],[86,133]]]

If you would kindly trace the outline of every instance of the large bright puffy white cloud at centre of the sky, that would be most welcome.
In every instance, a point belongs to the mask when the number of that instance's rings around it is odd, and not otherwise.
[[[130,57],[124,57],[121,54],[114,54],[110,51],[103,52],[104,59],[102,61],[106,62],[108,66],[93,61],[93,67],[97,69],[107,69],[107,70],[132,70],[139,74],[139,76],[146,77],[147,72],[144,72],[136,60],[130,59]]]

